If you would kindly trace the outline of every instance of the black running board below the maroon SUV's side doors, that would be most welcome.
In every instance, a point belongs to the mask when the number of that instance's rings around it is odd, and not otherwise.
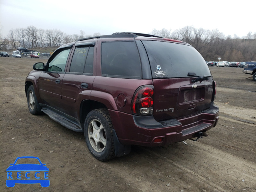
[[[84,132],[82,127],[78,124],[78,122],[71,120],[63,115],[60,115],[49,108],[43,107],[42,112],[48,115],[52,120],[58,122],[62,126],[71,129],[76,132]]]

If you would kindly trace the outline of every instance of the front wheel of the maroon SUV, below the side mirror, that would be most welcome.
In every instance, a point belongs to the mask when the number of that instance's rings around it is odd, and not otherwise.
[[[28,101],[28,109],[31,114],[38,115],[41,114],[41,107],[37,101],[34,86],[30,85],[27,92],[27,101]]]

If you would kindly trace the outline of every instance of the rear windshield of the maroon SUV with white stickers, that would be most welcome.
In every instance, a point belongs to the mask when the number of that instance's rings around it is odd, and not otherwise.
[[[143,40],[150,61],[153,78],[188,77],[211,75],[200,53],[192,46],[162,41]]]

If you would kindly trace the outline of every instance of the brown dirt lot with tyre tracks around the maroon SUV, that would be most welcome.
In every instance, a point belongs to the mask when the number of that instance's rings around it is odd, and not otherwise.
[[[47,59],[39,59],[46,62]],[[0,191],[256,191],[256,82],[241,68],[210,67],[220,120],[208,137],[170,146],[132,146],[127,156],[100,162],[74,132],[28,111],[24,80],[38,59],[0,58]],[[10,163],[37,156],[50,186],[6,187]]]

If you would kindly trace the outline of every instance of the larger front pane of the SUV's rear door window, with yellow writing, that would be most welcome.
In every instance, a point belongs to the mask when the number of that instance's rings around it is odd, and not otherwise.
[[[84,72],[85,60],[88,54],[89,47],[76,47],[69,72]]]

